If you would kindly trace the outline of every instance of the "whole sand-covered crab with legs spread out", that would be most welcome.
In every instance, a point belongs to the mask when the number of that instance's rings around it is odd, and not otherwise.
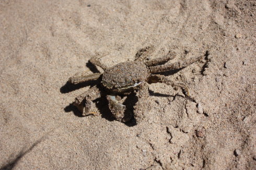
[[[202,57],[194,57],[182,62],[169,64],[167,62],[176,56],[174,52],[169,51],[165,56],[148,59],[147,55],[152,51],[152,48],[152,46],[148,46],[139,50],[133,62],[123,62],[112,67],[107,67],[100,62],[99,58],[92,57],[89,60],[90,63],[95,67],[101,67],[103,71],[90,75],[85,74],[85,72],[79,72],[70,77],[68,82],[77,84],[98,80],[100,84],[96,84],[78,95],[73,105],[77,107],[83,116],[86,116],[95,113],[91,111],[94,104],[93,101],[104,95],[107,97],[108,106],[115,119],[120,122],[128,122],[134,116],[136,122],[140,122],[145,117],[145,105],[148,105],[148,84],[162,82],[172,87],[179,87],[183,89],[185,96],[189,97],[189,89],[184,83],[174,82],[159,73],[187,67]],[[102,91],[102,89],[104,90]],[[126,108],[119,99],[120,95],[126,96],[132,92],[136,93],[138,99],[133,107],[133,112]],[[129,112],[125,112],[127,110]]]

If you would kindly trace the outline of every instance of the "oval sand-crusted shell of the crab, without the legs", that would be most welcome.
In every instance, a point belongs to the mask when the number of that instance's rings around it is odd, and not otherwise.
[[[142,62],[125,62],[108,68],[102,76],[102,85],[114,93],[135,89],[147,80],[149,72]]]

